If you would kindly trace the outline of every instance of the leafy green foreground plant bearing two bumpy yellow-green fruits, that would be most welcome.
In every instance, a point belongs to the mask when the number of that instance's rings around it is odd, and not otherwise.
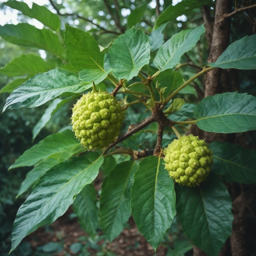
[[[50,2],[58,15],[66,15]],[[10,77],[22,76],[2,88],[1,92],[11,93],[3,111],[51,101],[33,128],[35,139],[63,104],[72,108],[70,126],[26,150],[9,168],[34,166],[18,193],[33,186],[17,212],[11,251],[73,205],[85,231],[94,238],[100,227],[109,241],[120,234],[132,214],[155,250],[177,214],[194,245],[218,255],[232,233],[227,185],[256,184],[256,153],[207,139],[206,132],[215,136],[256,130],[256,98],[226,91],[193,104],[187,96],[202,92],[196,81],[202,81],[204,74],[211,74],[206,79],[213,80],[220,70],[256,69],[256,35],[242,36],[224,47],[215,61],[200,66],[191,59],[184,63],[182,58],[193,52],[199,40],[206,40],[201,37],[205,31],[210,33],[208,23],[200,21],[199,26],[180,30],[167,40],[163,33],[172,16],[201,6],[213,6],[215,16],[220,15],[220,0],[216,6],[211,1],[183,0],[161,14],[158,6],[152,28],[144,31],[136,25],[146,8],[142,5],[131,13],[126,27],[117,16],[119,30],[104,28],[115,35],[106,47],[99,46],[92,33],[76,27],[65,25],[62,33],[58,16],[44,6],[29,8],[15,0],[5,4],[39,20],[44,28],[6,24],[0,27],[0,36],[13,44],[43,49],[53,57],[45,61],[34,54],[20,55],[0,69]],[[226,26],[232,15],[252,7],[236,8],[219,22]],[[212,37],[218,35],[217,26]],[[221,42],[211,43],[218,52]],[[185,66],[194,68],[193,72],[182,73]],[[191,134],[191,127],[197,127],[198,134]],[[118,154],[126,157],[117,164],[114,156]],[[93,182],[99,170],[105,179],[98,208]]]

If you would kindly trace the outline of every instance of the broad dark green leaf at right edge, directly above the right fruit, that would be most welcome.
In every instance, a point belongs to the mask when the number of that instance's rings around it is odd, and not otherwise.
[[[197,126],[207,132],[233,133],[256,129],[256,97],[226,92],[206,97],[194,108]]]

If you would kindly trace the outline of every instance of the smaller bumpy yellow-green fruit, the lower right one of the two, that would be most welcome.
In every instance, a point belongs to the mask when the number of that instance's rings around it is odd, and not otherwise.
[[[204,140],[192,134],[175,139],[164,154],[165,169],[180,185],[199,185],[212,169],[212,151]]]

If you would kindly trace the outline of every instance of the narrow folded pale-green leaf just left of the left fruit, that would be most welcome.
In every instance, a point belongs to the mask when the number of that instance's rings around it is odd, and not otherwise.
[[[39,132],[45,127],[45,125],[50,121],[52,115],[65,103],[69,102],[70,100],[79,97],[78,94],[75,94],[73,96],[70,96],[66,99],[55,99],[45,110],[42,117],[39,119],[39,121],[36,123],[36,125],[32,129],[33,134],[33,140],[36,138],[36,136],[39,134]]]

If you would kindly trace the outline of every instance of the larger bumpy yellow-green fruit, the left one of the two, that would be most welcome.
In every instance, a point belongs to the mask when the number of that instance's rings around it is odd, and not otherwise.
[[[123,108],[116,98],[103,91],[84,94],[72,110],[75,136],[91,150],[108,147],[124,120]]]

